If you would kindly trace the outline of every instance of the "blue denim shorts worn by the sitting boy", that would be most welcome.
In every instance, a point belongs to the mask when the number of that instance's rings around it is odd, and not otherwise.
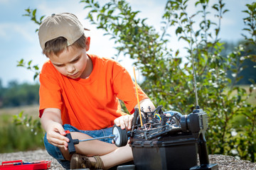
[[[65,125],[63,125],[63,128],[64,128],[64,130],[69,130],[70,132],[82,132],[82,133],[85,133],[86,135],[89,135],[90,137],[104,137],[104,136],[112,135],[112,127],[105,128],[102,130],[78,130],[77,128],[73,127],[72,125],[65,124]],[[111,138],[102,139],[101,141],[112,143]],[[50,156],[57,159],[57,161],[65,169],[70,169],[70,161],[64,159],[63,154],[61,154],[60,149],[58,147],[55,147],[54,145],[51,145],[48,142],[46,135],[43,139],[43,142],[44,142],[44,145],[46,147],[48,154],[50,154]]]

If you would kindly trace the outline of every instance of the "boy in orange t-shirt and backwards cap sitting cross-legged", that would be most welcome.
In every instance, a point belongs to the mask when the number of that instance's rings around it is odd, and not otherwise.
[[[129,113],[137,107],[134,82],[114,60],[87,55],[90,37],[72,13],[53,14],[41,23],[38,37],[49,58],[40,74],[39,117],[46,130],[48,153],[66,169],[109,169],[131,161],[129,145],[117,148],[112,140],[92,140],[75,145],[68,154],[70,130],[73,139],[85,140],[112,134],[114,123],[131,129],[133,115],[122,113],[119,99]],[[154,104],[139,90],[144,111]]]

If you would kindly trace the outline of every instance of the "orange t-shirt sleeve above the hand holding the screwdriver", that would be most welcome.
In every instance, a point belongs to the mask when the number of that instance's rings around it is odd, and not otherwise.
[[[49,63],[48,63],[49,64]],[[54,77],[53,69],[47,64],[43,65],[39,75],[39,117],[41,118],[45,108],[59,108],[61,110],[61,89],[58,80]]]

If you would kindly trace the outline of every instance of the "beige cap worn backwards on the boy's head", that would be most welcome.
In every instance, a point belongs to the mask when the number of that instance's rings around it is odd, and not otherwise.
[[[80,38],[85,29],[78,18],[73,13],[53,13],[48,16],[38,30],[39,42],[42,50],[45,48],[46,42],[58,37],[64,37],[68,40],[68,45]]]

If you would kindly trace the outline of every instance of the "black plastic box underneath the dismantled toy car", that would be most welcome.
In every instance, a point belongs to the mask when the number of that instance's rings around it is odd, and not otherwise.
[[[190,169],[198,162],[197,140],[191,134],[166,135],[154,140],[131,137],[137,170]]]

